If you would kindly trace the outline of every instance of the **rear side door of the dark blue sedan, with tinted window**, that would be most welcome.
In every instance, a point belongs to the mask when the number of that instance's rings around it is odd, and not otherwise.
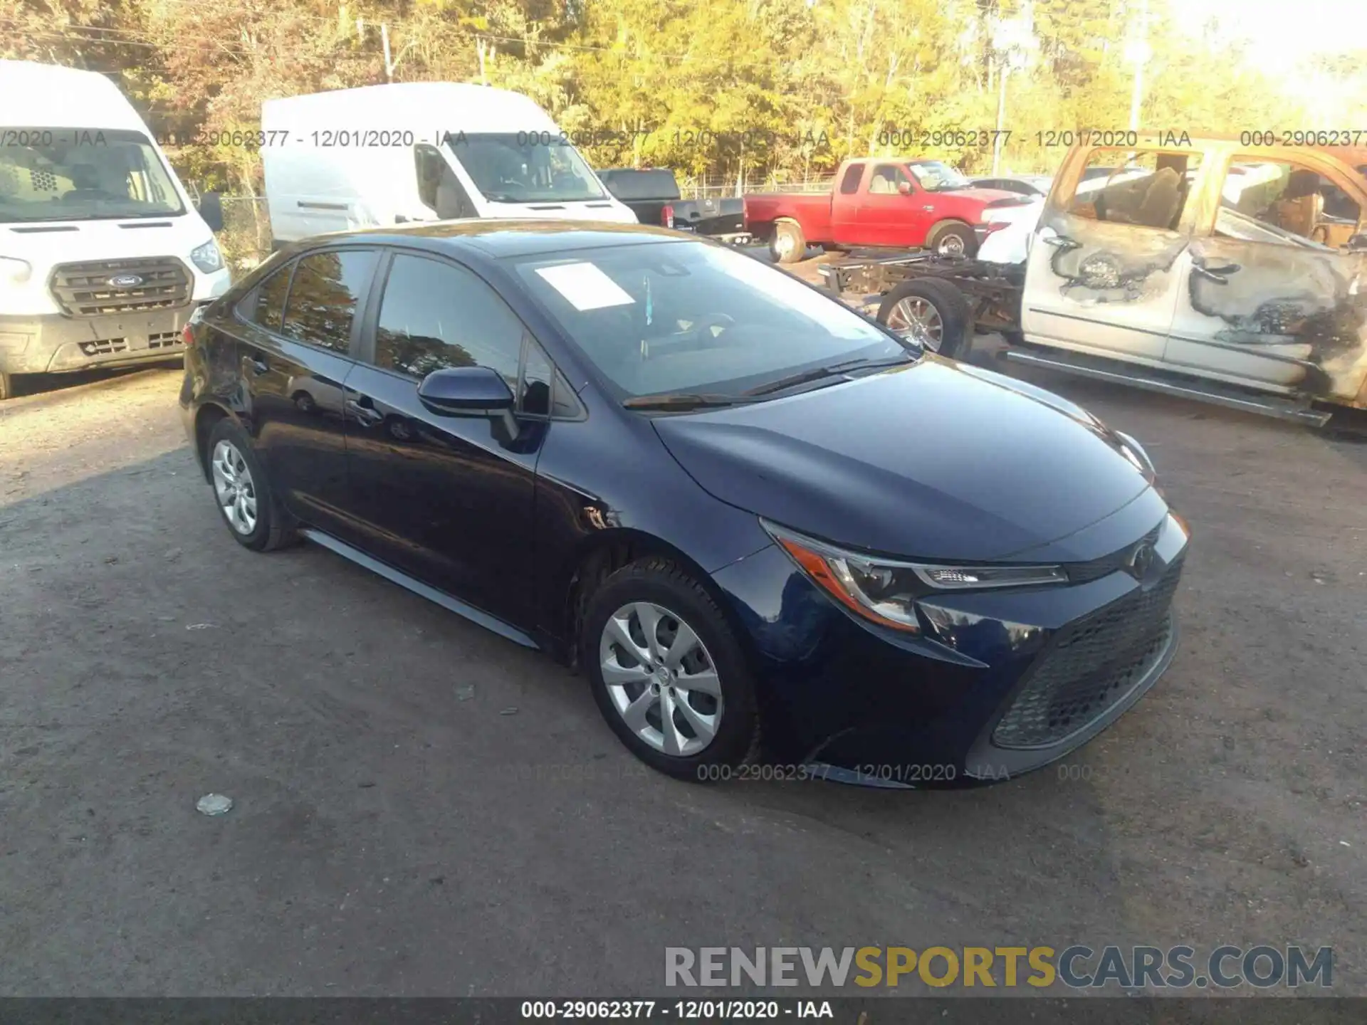
[[[350,500],[342,390],[377,262],[373,247],[313,250],[239,306],[239,380],[253,451],[290,512],[342,537]]]

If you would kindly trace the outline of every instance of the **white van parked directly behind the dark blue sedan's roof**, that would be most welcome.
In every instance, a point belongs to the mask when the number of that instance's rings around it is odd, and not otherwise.
[[[636,224],[555,122],[521,93],[402,82],[261,104],[276,245],[455,217]]]

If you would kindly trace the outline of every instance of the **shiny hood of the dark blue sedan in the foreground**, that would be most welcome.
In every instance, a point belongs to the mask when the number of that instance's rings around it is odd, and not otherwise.
[[[1002,559],[1148,489],[1066,399],[936,357],[655,429],[711,495],[869,552]]]

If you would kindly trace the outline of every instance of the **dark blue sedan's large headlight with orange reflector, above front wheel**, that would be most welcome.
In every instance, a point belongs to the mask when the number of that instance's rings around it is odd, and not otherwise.
[[[1061,566],[943,566],[850,552],[760,521],[783,551],[831,597],[883,626],[920,633],[916,600],[946,590],[1066,584]]]

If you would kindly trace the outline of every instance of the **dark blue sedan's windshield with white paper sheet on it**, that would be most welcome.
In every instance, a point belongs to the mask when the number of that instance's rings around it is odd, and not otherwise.
[[[741,398],[815,368],[915,358],[842,303],[705,242],[539,256],[517,269],[625,399]]]

